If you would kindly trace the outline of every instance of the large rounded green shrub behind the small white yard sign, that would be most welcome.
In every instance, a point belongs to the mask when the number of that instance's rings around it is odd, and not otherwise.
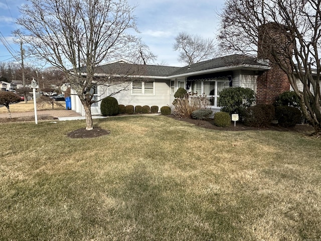
[[[255,101],[255,92],[250,88],[230,87],[222,89],[218,99],[221,111],[230,115],[237,113],[240,119],[244,116],[244,110]]]

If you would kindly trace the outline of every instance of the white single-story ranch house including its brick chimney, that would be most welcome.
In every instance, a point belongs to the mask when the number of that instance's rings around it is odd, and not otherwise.
[[[205,95],[210,101],[208,107],[217,112],[220,111],[220,91],[233,86],[253,89],[256,93],[256,104],[272,104],[281,93],[290,90],[286,73],[277,64],[269,61],[273,60],[269,36],[281,43],[276,46],[278,51],[292,52],[292,45],[288,44],[286,35],[280,30],[280,26],[275,23],[260,26],[257,57],[234,54],[184,67],[136,65],[118,61],[98,66],[95,73],[97,77],[128,76],[128,88],[113,95],[119,104],[124,105],[174,107],[174,94],[179,87],[183,87],[188,92]],[[86,71],[83,72],[86,74]],[[134,79],[140,81],[133,81]],[[299,80],[297,85],[302,87]],[[117,92],[117,88],[117,85],[109,86],[107,89],[98,87],[94,94],[97,99],[102,99]],[[75,92],[72,90],[72,93]],[[84,115],[78,96],[72,95],[71,106],[73,110]],[[100,114],[100,102],[92,105],[91,110],[92,114]]]

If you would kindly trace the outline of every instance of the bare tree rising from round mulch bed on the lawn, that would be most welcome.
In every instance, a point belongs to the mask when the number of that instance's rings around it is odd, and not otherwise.
[[[86,130],[93,129],[92,89],[108,78],[94,79],[95,67],[119,57],[136,30],[133,7],[125,0],[30,0],[17,23],[16,36],[39,58],[60,68],[69,78],[84,106]],[[25,32],[23,32],[25,31]],[[109,79],[110,81],[110,79]]]

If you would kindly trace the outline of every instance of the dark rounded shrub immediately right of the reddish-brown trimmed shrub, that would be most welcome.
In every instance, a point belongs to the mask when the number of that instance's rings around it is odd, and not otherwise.
[[[295,125],[300,121],[301,111],[294,106],[276,106],[275,118],[281,127],[295,127]]]

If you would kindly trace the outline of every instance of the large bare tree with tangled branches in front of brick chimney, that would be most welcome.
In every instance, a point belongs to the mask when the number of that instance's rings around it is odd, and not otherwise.
[[[320,4],[321,0],[227,0],[219,36],[222,49],[258,51],[286,73],[316,134],[321,132]],[[269,28],[277,28],[277,34]],[[259,34],[264,41],[258,41]]]

